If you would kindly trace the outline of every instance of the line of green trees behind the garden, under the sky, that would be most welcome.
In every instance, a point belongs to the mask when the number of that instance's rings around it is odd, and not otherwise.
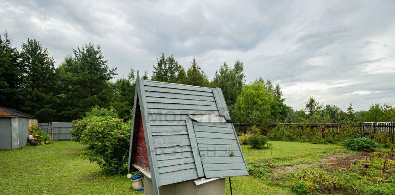
[[[20,51],[12,45],[8,32],[0,35],[0,101],[34,115],[42,122],[70,122],[81,118],[93,106],[114,108],[120,118],[131,119],[135,70],[124,77],[117,68],[109,68],[100,45],[85,44],[72,49],[72,54],[55,66],[53,57],[35,39],[24,42]],[[310,97],[301,110],[285,104],[280,85],[258,78],[246,83],[244,64],[226,62],[209,80],[195,57],[186,69],[173,54],[164,53],[141,76],[145,80],[220,87],[233,123],[343,123],[395,121],[395,109],[390,104],[371,104],[368,110],[343,111],[336,105],[319,104]],[[114,80],[115,79],[115,80]]]

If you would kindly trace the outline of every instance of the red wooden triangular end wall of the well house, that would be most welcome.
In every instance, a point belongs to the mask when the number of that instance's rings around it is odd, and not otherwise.
[[[149,161],[147,154],[147,146],[145,145],[143,120],[141,119],[140,106],[137,104],[135,112],[135,123],[133,131],[133,144],[132,144],[132,162],[136,163],[145,170],[149,170]]]

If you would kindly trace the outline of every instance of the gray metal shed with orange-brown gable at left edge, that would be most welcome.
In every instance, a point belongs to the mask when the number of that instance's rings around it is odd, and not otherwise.
[[[0,106],[0,150],[26,146],[29,125],[36,117]]]

